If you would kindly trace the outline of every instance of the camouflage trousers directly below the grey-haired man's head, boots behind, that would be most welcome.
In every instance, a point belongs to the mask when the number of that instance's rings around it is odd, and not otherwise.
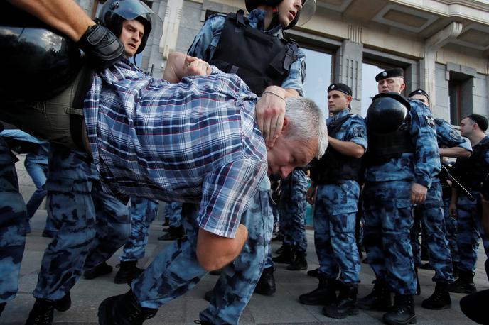
[[[301,252],[307,250],[306,192],[309,187],[306,172],[296,169],[281,180],[279,214],[284,245]]]

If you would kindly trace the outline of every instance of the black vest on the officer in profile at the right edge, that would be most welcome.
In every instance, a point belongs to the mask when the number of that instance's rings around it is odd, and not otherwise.
[[[489,150],[489,139],[484,138],[472,147],[473,153],[467,158],[457,158],[453,166],[454,176],[468,190],[480,190],[480,186],[489,172],[485,163],[485,153]]]

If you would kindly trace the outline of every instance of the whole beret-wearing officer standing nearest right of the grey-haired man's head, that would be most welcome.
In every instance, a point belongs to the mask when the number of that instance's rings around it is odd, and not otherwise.
[[[350,114],[351,101],[352,91],[346,84],[328,87],[328,109],[333,113],[326,121],[329,145],[323,158],[311,163],[313,184],[307,194],[314,204],[319,286],[302,294],[299,301],[322,304],[323,314],[333,318],[358,314],[360,258],[355,220],[360,197],[360,158],[367,150],[367,126],[361,116]]]

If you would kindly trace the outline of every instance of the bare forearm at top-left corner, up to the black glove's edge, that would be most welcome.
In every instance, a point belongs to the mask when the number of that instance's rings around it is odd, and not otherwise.
[[[77,42],[89,26],[95,25],[73,0],[8,0]]]

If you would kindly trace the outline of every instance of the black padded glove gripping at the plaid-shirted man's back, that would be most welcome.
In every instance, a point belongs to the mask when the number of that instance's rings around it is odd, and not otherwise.
[[[96,69],[111,67],[124,56],[124,44],[107,27],[97,23],[87,28],[78,41],[88,60]]]

